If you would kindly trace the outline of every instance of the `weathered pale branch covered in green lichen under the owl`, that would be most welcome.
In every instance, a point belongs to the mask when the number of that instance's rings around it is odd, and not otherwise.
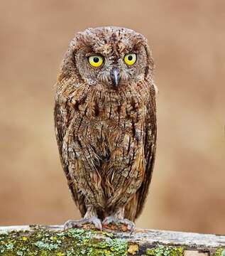
[[[0,255],[197,254],[225,256],[225,236],[141,229],[129,234],[78,228],[64,231],[62,226],[0,227]]]

